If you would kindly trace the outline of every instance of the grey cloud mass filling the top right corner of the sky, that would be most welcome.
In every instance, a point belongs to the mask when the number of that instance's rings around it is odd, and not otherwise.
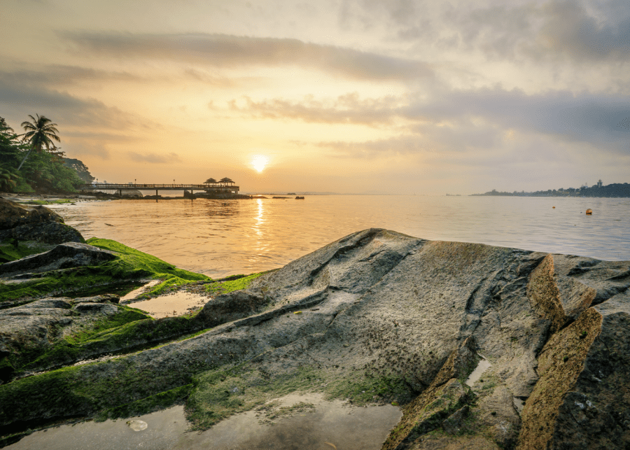
[[[484,4],[485,3],[485,4]],[[386,28],[400,41],[479,51],[492,59],[530,59],[557,63],[630,60],[630,9],[627,0],[359,1],[339,16],[365,29]]]

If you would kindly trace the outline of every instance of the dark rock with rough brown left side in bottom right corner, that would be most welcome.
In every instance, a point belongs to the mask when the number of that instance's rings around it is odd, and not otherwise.
[[[517,449],[630,447],[630,294],[587,309],[538,358]]]

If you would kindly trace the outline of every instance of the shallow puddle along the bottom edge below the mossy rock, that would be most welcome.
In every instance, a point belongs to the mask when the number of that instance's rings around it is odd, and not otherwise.
[[[378,450],[402,412],[391,405],[351,407],[341,400],[324,401],[320,394],[286,395],[278,407],[300,402],[307,412],[237,414],[204,432],[186,432],[183,407],[130,419],[83,422],[37,431],[7,449],[49,450]],[[276,415],[277,414],[277,415]],[[266,419],[266,420],[264,420]],[[269,424],[269,420],[273,424]],[[267,423],[265,423],[267,422]]]

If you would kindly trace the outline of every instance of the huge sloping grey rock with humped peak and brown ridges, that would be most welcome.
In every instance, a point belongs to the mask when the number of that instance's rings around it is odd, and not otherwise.
[[[404,386],[384,449],[626,449],[629,288],[630,262],[365,230],[212,300],[196,319],[214,327],[202,335],[78,368],[64,386],[80,402],[13,402],[0,425],[94,414],[193,377],[187,408],[211,417],[212,370],[238,365],[230,377],[246,395],[312,367]],[[479,355],[491,367],[467,386]],[[83,384],[120,377],[124,388],[81,397]],[[11,385],[0,402],[39,398],[33,382]]]

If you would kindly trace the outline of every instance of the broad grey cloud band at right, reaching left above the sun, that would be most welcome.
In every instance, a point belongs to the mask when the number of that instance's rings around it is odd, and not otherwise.
[[[242,103],[242,102],[241,102]],[[610,96],[588,92],[573,94],[566,90],[526,94],[500,87],[479,90],[442,89],[405,97],[360,99],[351,93],[336,99],[302,101],[244,97],[243,106],[232,101],[233,111],[253,118],[302,120],[339,125],[406,129],[404,141],[363,143],[360,152],[374,155],[391,148],[396,151],[465,151],[497,145],[510,130],[526,134],[544,134],[566,142],[584,142],[603,151],[630,152],[630,96]],[[420,142],[420,143],[418,143]],[[344,152],[357,154],[349,143]]]

